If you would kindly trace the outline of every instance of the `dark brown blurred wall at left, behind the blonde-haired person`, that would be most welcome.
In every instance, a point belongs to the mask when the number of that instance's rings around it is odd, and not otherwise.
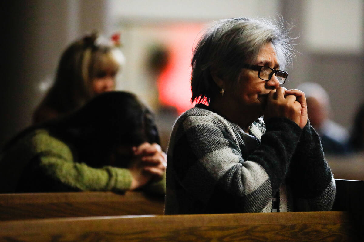
[[[104,28],[105,1],[3,1],[0,147],[31,124],[34,108],[53,81],[66,46]]]

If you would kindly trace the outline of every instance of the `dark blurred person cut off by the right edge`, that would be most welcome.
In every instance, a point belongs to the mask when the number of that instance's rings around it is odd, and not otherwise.
[[[349,139],[349,149],[353,152],[364,151],[364,104],[358,108]]]

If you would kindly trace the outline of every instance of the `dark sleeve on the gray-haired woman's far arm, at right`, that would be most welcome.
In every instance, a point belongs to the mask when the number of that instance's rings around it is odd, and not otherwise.
[[[320,137],[309,122],[303,129],[290,172],[295,211],[327,211],[332,208],[335,180],[325,160]]]

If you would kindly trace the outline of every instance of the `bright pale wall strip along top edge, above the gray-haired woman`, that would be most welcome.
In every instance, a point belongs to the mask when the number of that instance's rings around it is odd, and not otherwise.
[[[109,0],[110,20],[213,21],[231,17],[270,16],[279,0]]]

